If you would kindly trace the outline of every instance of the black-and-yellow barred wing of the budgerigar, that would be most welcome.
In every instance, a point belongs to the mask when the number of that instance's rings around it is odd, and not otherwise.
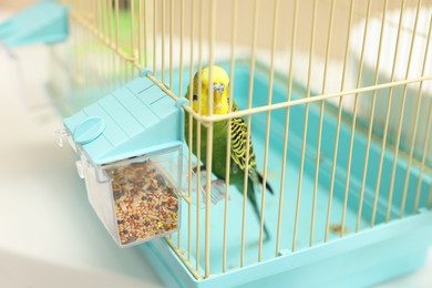
[[[238,111],[238,107],[233,103],[233,111]],[[243,117],[234,117],[232,120],[232,160],[241,171],[246,167],[246,148],[247,142],[249,142],[249,160],[248,160],[248,174],[256,175],[256,160],[254,147],[250,141],[250,136],[247,137],[247,123]]]

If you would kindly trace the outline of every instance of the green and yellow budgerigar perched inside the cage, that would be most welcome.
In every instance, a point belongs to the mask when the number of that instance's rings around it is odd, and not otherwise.
[[[200,73],[200,79],[198,78]],[[200,80],[200,82],[199,82]],[[196,72],[193,80],[193,90],[192,97],[189,96],[189,88],[186,92],[186,99],[193,100],[193,110],[198,112],[198,89],[200,85],[200,110],[202,115],[207,114],[208,96],[208,86],[212,85],[213,89],[213,114],[226,114],[229,111],[229,101],[233,101],[233,111],[237,111],[237,105],[234,100],[229,99],[229,76],[227,72],[219,66],[213,66],[213,83],[209,82],[209,69],[204,68],[202,71]],[[196,121],[193,120],[193,153],[196,155],[197,152],[197,141],[196,141]],[[247,138],[247,123],[243,117],[234,117],[232,120],[230,127],[228,127],[228,121],[218,121],[213,124],[213,161],[212,161],[212,172],[220,179],[225,181],[226,177],[226,145],[227,145],[227,130],[230,128],[232,132],[232,150],[230,150],[230,174],[229,174],[229,184],[237,187],[237,189],[244,192],[244,177],[245,177],[245,167],[248,165],[248,184],[247,184],[247,197],[250,200],[254,212],[260,220],[260,212],[258,208],[256,194],[254,191],[254,184],[263,184],[263,176],[257,172],[256,158],[253,148],[250,137]],[[189,120],[188,115],[185,119],[185,138],[188,143],[189,134]],[[249,141],[249,160],[246,163],[246,145]],[[206,152],[207,152],[207,128],[202,127],[200,135],[200,160],[206,164]],[[203,166],[205,168],[205,166]],[[215,181],[217,182],[217,181]],[[212,184],[215,184],[213,182]],[[268,183],[266,183],[266,188],[272,194],[272,189]],[[265,239],[269,239],[269,233],[264,224]]]

